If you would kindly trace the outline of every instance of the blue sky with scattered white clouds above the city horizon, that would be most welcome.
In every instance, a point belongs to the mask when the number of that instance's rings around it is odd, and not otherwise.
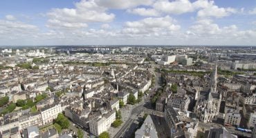
[[[0,46],[55,45],[256,46],[256,1],[0,1]]]

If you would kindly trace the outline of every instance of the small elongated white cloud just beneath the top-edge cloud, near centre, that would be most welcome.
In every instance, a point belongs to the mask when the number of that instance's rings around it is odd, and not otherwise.
[[[131,10],[127,10],[127,12],[132,13],[132,14],[138,14],[140,16],[144,17],[158,17],[160,13],[154,9],[151,8],[135,8]]]

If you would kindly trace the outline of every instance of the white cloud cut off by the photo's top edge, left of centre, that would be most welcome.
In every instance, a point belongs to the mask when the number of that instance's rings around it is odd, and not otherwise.
[[[154,0],[95,0],[95,2],[105,8],[127,9],[137,6],[150,6]]]

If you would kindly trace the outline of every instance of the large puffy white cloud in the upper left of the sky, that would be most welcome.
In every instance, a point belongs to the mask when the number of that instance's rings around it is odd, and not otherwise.
[[[59,24],[67,28],[84,28],[89,22],[110,22],[115,18],[114,14],[107,13],[107,8],[98,6],[94,0],[82,0],[75,3],[75,8],[55,8],[47,15],[50,18],[48,27]]]

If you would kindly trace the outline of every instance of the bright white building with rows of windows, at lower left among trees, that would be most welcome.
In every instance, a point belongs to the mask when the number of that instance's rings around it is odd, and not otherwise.
[[[41,110],[41,116],[43,125],[51,124],[53,119],[57,118],[57,115],[62,112],[62,107],[60,104],[53,104],[51,106],[45,106]]]

